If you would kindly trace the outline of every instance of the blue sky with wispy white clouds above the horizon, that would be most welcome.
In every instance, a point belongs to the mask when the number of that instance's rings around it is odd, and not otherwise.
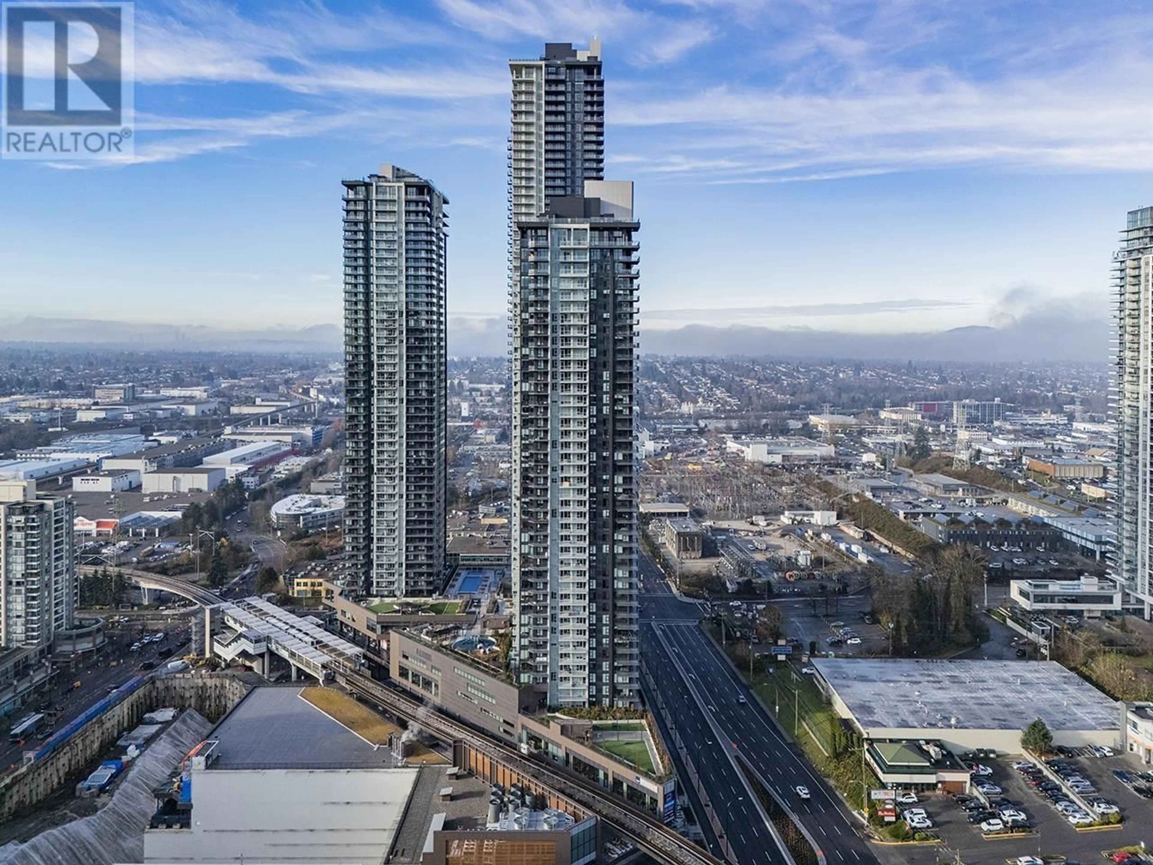
[[[1153,203],[1153,10],[1113,0],[142,0],[136,159],[0,161],[0,317],[340,321],[340,180],[451,201],[454,326],[505,309],[507,59],[604,45],[642,326],[1107,315]]]

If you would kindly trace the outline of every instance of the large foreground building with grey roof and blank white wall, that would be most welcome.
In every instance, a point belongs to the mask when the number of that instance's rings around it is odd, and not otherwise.
[[[144,832],[145,863],[387,858],[420,769],[404,767],[386,740],[364,740],[303,693],[253,689],[174,767]]]

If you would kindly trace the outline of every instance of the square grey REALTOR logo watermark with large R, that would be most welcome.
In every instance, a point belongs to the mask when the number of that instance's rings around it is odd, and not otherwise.
[[[133,3],[0,2],[0,157],[133,155]]]

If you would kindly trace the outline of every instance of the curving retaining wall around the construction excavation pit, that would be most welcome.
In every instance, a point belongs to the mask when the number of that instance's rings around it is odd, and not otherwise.
[[[250,685],[227,674],[155,677],[99,717],[89,721],[47,757],[0,781],[0,820],[30,810],[52,792],[86,775],[92,764],[153,709],[196,709],[216,722],[243,699]]]

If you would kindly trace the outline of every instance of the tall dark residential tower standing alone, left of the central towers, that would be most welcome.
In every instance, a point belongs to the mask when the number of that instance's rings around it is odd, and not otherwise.
[[[345,186],[345,562],[364,594],[438,592],[449,201],[383,165]]]

